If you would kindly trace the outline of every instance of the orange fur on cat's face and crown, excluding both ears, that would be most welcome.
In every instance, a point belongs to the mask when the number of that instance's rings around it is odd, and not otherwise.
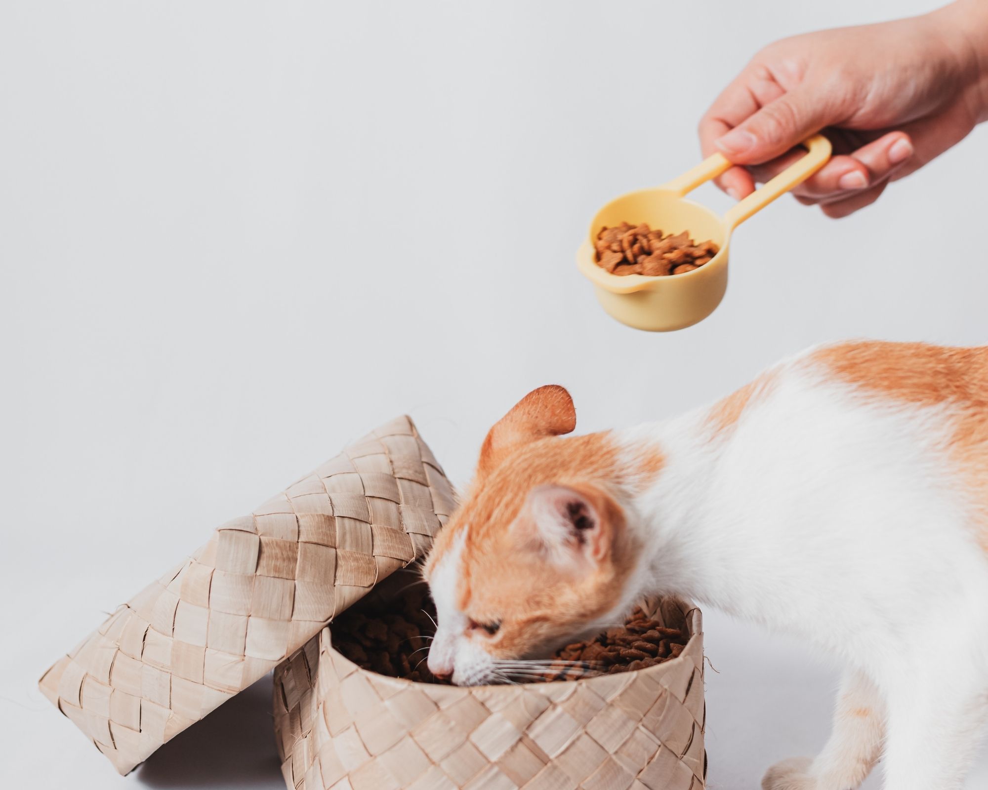
[[[466,530],[457,605],[481,622],[503,620],[488,644],[492,655],[526,655],[616,604],[637,555],[614,489],[634,486],[641,475],[623,452],[607,433],[548,436],[502,447],[495,466],[478,468],[460,508],[436,537],[429,565],[439,563]],[[657,471],[662,461],[652,452],[643,454],[642,463]],[[557,567],[533,548],[534,522],[523,509],[542,485],[579,492],[599,514],[609,551],[586,572]]]

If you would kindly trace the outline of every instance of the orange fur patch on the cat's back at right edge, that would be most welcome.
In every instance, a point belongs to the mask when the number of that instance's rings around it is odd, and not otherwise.
[[[947,451],[980,511],[978,542],[988,553],[988,347],[845,343],[810,357],[864,392],[953,414]]]

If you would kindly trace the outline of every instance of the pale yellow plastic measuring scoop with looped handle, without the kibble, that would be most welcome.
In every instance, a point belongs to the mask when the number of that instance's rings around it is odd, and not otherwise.
[[[731,163],[714,154],[679,178],[651,190],[617,197],[590,224],[590,235],[576,255],[580,272],[594,283],[597,299],[622,324],[649,332],[669,332],[702,321],[720,304],[727,289],[727,248],[731,231],[756,211],[804,182],[830,158],[830,140],[814,134],[805,140],[807,154],[761,189],[739,200],[723,216],[684,196],[716,178]],[[719,252],[693,272],[671,276],[612,275],[594,261],[594,241],[601,228],[621,222],[647,222],[663,233],[690,232],[698,244],[709,239]]]

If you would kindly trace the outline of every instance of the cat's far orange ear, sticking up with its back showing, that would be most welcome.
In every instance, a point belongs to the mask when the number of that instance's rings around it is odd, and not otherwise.
[[[576,428],[576,408],[564,387],[546,384],[526,395],[487,434],[480,448],[477,473],[494,469],[518,444],[545,436],[569,434]]]

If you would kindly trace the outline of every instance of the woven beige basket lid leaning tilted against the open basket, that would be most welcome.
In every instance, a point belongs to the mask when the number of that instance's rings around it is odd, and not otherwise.
[[[219,526],[41,691],[126,773],[421,557],[452,511],[442,468],[398,418]]]

